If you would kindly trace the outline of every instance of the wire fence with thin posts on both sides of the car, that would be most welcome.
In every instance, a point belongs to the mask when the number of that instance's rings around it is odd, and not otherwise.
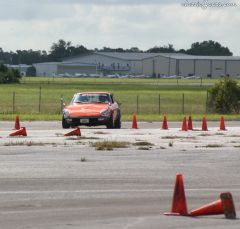
[[[29,89],[29,93],[0,92],[0,113],[42,113],[59,114],[63,103],[68,104],[74,93],[51,94],[42,87]],[[207,92],[198,93],[159,93],[133,94],[115,93],[114,98],[120,104],[123,114],[179,114],[179,113],[207,113]]]

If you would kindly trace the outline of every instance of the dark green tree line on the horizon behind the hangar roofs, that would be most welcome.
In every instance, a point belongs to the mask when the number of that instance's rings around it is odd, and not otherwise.
[[[71,41],[65,41],[60,39],[58,42],[53,43],[50,51],[32,49],[29,50],[17,50],[16,52],[5,52],[0,47],[0,63],[2,64],[28,64],[41,63],[41,62],[58,62],[63,58],[73,57],[76,55],[87,54],[91,52],[153,52],[153,53],[184,53],[190,55],[202,55],[202,56],[232,56],[233,53],[228,47],[223,47],[216,41],[203,41],[195,42],[189,49],[175,49],[172,44],[165,46],[154,46],[148,50],[141,50],[138,47],[132,47],[130,49],[123,48],[109,48],[103,47],[102,49],[88,49],[83,45],[73,46]]]

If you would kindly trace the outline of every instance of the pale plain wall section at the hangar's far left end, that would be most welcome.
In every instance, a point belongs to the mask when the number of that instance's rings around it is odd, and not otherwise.
[[[36,76],[57,75],[57,65],[58,62],[33,64],[36,68]]]

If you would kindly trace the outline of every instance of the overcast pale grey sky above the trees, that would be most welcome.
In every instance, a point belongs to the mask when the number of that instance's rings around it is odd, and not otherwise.
[[[240,0],[0,0],[0,47],[49,51],[59,39],[89,49],[188,49],[214,40],[240,56]]]

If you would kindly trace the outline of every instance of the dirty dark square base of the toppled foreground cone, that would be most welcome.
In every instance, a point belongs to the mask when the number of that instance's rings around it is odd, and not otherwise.
[[[236,219],[236,211],[233,203],[232,194],[225,192],[220,194],[224,215],[227,219]]]

